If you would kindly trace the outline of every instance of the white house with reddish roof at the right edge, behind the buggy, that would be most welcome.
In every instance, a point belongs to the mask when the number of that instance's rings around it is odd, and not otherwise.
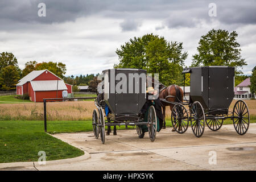
[[[235,100],[248,100],[250,98],[255,98],[255,94],[250,92],[250,78],[246,78],[240,84],[238,84],[234,89],[234,99]]]

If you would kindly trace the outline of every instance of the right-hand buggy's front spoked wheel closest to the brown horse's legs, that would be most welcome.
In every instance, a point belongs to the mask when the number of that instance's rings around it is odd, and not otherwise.
[[[185,133],[188,129],[188,111],[182,104],[176,104],[172,108],[172,126],[177,131],[177,133]]]

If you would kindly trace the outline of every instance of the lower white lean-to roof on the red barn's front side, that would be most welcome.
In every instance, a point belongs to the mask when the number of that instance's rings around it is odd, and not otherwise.
[[[30,81],[34,91],[67,90],[63,80],[40,80]],[[58,88],[57,88],[58,87]]]

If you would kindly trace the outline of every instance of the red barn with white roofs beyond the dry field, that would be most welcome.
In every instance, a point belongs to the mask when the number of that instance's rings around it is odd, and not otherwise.
[[[16,94],[28,94],[31,101],[43,102],[43,98],[62,98],[63,90],[72,93],[72,85],[48,71],[32,71],[16,84]]]

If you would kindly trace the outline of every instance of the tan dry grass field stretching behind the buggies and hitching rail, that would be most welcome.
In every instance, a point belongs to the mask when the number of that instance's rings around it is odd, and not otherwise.
[[[230,105],[230,110],[236,100]],[[256,100],[245,100],[250,111],[250,118],[256,119]],[[47,102],[47,119],[59,121],[79,121],[92,118],[94,101]],[[167,107],[167,119],[171,111]],[[43,120],[43,103],[0,104],[1,120]]]

